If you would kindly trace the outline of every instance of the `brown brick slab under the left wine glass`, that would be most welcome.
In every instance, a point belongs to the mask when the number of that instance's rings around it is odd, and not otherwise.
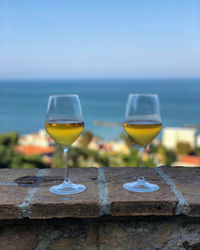
[[[30,202],[31,218],[99,217],[99,191],[96,168],[70,169],[70,178],[87,190],[74,195],[55,195],[49,192],[53,185],[63,181],[64,169],[50,169]]]

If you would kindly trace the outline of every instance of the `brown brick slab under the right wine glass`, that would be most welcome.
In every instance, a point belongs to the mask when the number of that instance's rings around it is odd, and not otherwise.
[[[177,198],[153,168],[143,168],[143,175],[160,190],[152,193],[134,193],[123,188],[126,182],[137,179],[138,168],[104,168],[108,201],[112,216],[173,215]]]

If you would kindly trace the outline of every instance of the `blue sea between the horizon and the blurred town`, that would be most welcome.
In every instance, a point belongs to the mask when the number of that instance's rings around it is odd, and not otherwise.
[[[93,121],[124,119],[129,93],[157,93],[163,126],[200,124],[200,79],[28,80],[0,81],[0,132],[20,134],[44,128],[48,96],[79,94],[85,129],[104,139],[117,139],[120,127]]]

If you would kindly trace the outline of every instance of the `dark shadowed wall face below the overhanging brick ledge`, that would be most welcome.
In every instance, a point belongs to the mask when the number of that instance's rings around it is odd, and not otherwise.
[[[180,216],[1,221],[0,249],[199,250],[200,221]]]

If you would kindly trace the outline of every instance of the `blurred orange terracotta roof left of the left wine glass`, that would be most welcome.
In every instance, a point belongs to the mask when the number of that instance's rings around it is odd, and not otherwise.
[[[21,146],[18,145],[15,150],[24,155],[43,155],[43,154],[50,154],[55,151],[54,147],[40,147],[40,146],[33,146],[33,145],[25,145]]]

